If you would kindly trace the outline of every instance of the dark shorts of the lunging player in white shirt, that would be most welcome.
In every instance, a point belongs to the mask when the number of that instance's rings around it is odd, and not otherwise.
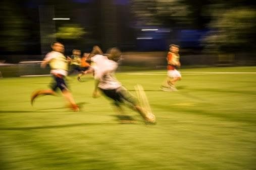
[[[100,89],[100,88],[99,88]],[[120,87],[117,89],[100,89],[107,97],[113,99],[115,102],[123,103],[124,101],[136,106],[138,104],[135,98],[127,89]]]

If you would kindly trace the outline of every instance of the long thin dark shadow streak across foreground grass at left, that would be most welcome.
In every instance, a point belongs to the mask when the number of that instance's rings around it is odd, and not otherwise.
[[[118,125],[121,123],[77,123],[67,125],[49,125],[49,126],[32,126],[32,127],[6,127],[0,130],[36,130],[36,129],[55,129],[55,128],[68,128],[77,126],[91,126],[91,125]]]

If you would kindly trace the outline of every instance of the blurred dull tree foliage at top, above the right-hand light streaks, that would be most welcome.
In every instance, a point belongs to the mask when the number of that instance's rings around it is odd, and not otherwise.
[[[177,26],[189,24],[189,6],[182,0],[133,0],[137,26]]]

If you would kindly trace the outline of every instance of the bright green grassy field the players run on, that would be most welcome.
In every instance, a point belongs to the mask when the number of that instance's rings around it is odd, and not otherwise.
[[[117,73],[131,93],[136,83],[144,87],[156,125],[128,108],[136,123],[121,124],[111,101],[91,98],[90,75],[68,78],[80,112],[62,97],[30,105],[31,93],[47,88],[50,77],[0,79],[0,168],[256,169],[255,72],[181,69],[178,92],[160,91],[165,70]]]

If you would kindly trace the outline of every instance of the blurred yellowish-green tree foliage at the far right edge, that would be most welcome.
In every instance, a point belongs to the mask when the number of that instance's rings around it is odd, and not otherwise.
[[[213,9],[213,8],[212,8]],[[203,43],[212,52],[255,50],[256,10],[248,7],[212,10],[211,33]]]

